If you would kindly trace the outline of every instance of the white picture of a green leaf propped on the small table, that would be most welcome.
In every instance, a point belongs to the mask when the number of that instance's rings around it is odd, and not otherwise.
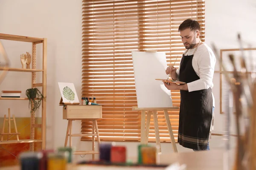
[[[79,103],[76,89],[73,83],[70,82],[58,82],[61,97],[64,103]]]

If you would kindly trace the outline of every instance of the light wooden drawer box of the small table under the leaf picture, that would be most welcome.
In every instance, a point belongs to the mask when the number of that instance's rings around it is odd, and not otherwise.
[[[101,119],[102,105],[63,106],[63,119]]]

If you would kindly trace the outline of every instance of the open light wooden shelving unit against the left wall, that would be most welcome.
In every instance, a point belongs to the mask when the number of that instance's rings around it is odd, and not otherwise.
[[[32,68],[24,69],[24,68],[1,68],[0,71],[17,71],[17,72],[31,72],[31,87],[42,87],[42,94],[46,97],[46,84],[47,84],[47,39],[46,38],[35,38],[35,37],[25,37],[18,35],[10,35],[10,34],[0,34],[0,40],[12,40],[12,41],[22,41],[22,42],[31,42],[32,43]],[[42,43],[43,44],[43,65],[42,70],[36,69],[36,45]],[[42,82],[36,83],[36,72],[42,72]],[[11,98],[11,97],[0,97],[0,100],[28,100],[27,98]],[[42,149],[46,148],[46,101],[42,100],[42,124],[35,124],[35,113],[31,113],[30,117],[30,139],[20,139],[17,140],[9,140],[2,141],[0,144],[14,144],[14,143],[30,143],[30,151],[34,151],[34,143],[42,142]],[[41,139],[35,139],[35,127],[41,128],[42,136]]]

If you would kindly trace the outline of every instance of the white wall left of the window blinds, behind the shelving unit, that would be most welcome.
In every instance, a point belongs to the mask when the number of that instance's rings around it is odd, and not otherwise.
[[[67,120],[62,119],[59,106],[58,82],[73,82],[79,99],[81,98],[81,0],[1,0],[0,32],[29,37],[47,38],[47,147],[64,145]],[[12,58],[11,66],[20,68],[20,54],[29,51],[31,43],[2,41],[7,54]],[[42,48],[38,45],[39,56]],[[25,81],[23,77],[25,77]],[[30,87],[31,74],[8,73],[0,89],[20,89]],[[7,83],[8,82],[8,83]],[[11,86],[10,86],[11,84]],[[12,102],[17,105],[13,107]],[[0,101],[0,116],[10,107],[15,116],[29,116],[28,101]],[[22,108],[22,109],[21,109]],[[79,130],[80,122],[74,122],[74,130]],[[77,138],[77,141],[79,139]],[[76,140],[74,140],[76,144]]]

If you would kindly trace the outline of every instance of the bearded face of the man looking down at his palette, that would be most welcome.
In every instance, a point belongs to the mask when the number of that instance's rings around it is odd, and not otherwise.
[[[190,28],[186,28],[180,31],[181,40],[186,49],[193,48],[196,44],[196,33],[198,31],[191,31]]]

